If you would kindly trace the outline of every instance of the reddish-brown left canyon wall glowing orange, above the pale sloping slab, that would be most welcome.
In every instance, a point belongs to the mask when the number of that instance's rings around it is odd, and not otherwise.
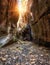
[[[0,32],[8,32],[8,27],[16,27],[19,14],[17,0],[0,0]]]

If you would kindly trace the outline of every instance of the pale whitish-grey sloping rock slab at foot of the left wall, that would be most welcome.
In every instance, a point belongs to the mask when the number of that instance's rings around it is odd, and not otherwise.
[[[12,35],[8,34],[7,36],[0,37],[0,47],[6,45],[12,40]]]

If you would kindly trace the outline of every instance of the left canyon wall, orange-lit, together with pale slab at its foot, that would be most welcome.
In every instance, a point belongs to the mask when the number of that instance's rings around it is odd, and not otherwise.
[[[17,0],[0,0],[0,47],[4,46],[15,34],[17,13]]]

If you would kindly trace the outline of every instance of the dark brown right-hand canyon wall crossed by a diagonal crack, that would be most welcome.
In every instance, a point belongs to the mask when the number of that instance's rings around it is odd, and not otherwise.
[[[50,42],[50,0],[33,0],[31,22],[33,38]]]

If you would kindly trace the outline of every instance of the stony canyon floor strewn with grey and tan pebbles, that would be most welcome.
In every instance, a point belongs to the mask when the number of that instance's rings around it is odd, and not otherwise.
[[[0,49],[0,65],[50,65],[50,49],[19,41]]]

